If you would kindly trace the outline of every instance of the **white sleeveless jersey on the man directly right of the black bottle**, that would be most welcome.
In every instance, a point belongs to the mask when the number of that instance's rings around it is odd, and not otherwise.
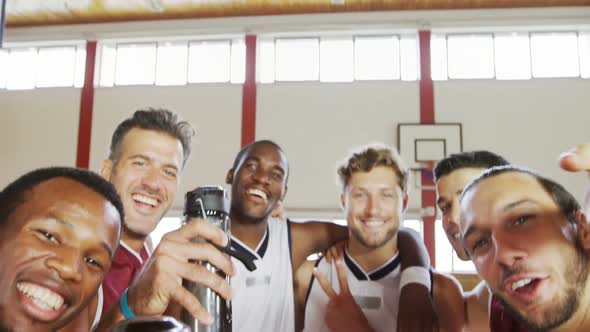
[[[291,226],[271,218],[255,251],[232,237],[232,248],[255,258],[250,272],[232,257],[232,330],[234,332],[292,332],[295,330]]]

